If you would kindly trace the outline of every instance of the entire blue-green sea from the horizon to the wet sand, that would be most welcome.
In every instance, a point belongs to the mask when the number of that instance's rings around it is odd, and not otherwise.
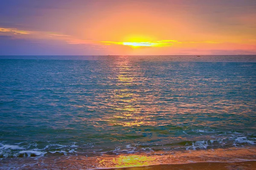
[[[255,144],[255,55],[0,57],[2,160]]]

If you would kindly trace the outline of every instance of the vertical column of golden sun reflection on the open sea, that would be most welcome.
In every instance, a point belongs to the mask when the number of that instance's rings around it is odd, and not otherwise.
[[[114,71],[117,76],[116,86],[120,87],[113,91],[113,109],[118,111],[113,115],[114,124],[122,126],[141,126],[146,124],[143,117],[140,116],[140,107],[134,105],[140,100],[140,95],[135,94],[129,86],[134,85],[136,81],[136,72],[130,60],[122,58],[116,61]],[[136,67],[136,69],[139,69]]]

